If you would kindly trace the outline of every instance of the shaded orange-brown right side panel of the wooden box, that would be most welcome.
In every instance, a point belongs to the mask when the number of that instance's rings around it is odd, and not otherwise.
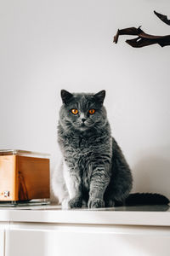
[[[49,160],[17,156],[18,200],[49,198]]]

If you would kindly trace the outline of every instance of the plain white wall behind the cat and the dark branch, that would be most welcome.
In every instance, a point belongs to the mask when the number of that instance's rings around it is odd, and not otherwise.
[[[170,196],[170,46],[133,49],[117,28],[170,34],[168,0],[1,0],[0,148],[57,157],[60,90],[98,92],[135,191]]]

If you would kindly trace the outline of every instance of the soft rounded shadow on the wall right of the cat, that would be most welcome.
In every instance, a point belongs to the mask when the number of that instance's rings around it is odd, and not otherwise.
[[[161,193],[170,198],[170,160],[150,155],[133,166],[133,191]]]

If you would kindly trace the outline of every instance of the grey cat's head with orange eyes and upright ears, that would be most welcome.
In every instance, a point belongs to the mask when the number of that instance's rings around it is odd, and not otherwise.
[[[60,123],[66,130],[87,131],[105,125],[106,111],[103,106],[105,90],[97,94],[74,93],[61,90],[63,105],[60,108]]]

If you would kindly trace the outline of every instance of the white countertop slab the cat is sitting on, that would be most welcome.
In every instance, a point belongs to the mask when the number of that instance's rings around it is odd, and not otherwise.
[[[134,212],[99,210],[61,210],[59,207],[37,207],[18,210],[0,210],[0,221],[54,223],[54,224],[119,224],[170,226],[170,212]]]

